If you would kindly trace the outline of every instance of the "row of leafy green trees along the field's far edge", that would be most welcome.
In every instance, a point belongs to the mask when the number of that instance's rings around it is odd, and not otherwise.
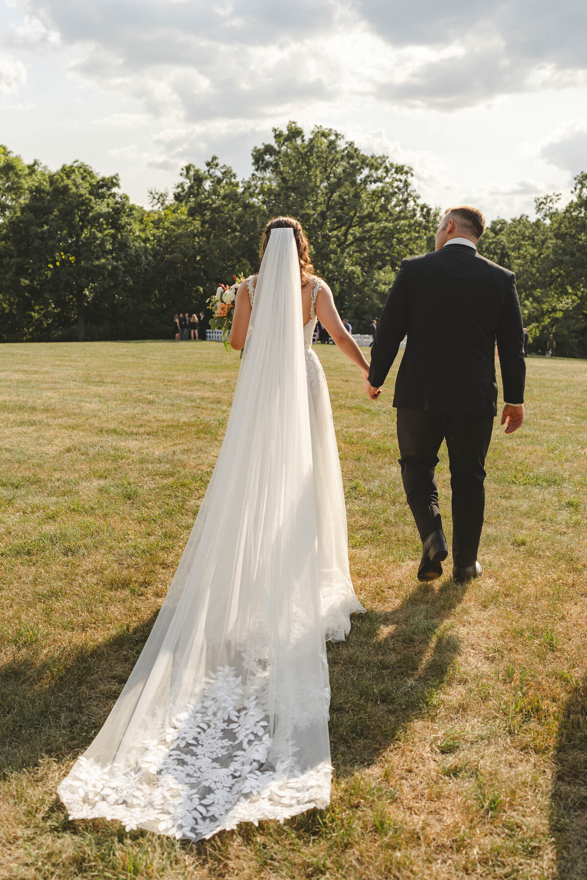
[[[297,216],[341,314],[364,332],[400,260],[434,248],[439,211],[413,172],[367,155],[332,128],[295,122],[255,147],[243,180],[216,157],[186,165],[145,209],[118,175],[83,162],[50,171],[0,146],[0,341],[172,336],[175,312],[199,312],[218,282],[259,268],[260,231]],[[495,220],[480,251],[516,272],[531,350],[587,355],[587,174],[569,204],[537,200],[537,219]]]

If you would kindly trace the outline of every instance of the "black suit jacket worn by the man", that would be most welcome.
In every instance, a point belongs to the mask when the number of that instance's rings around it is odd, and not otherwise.
[[[371,348],[371,385],[383,385],[406,334],[394,407],[495,415],[495,341],[503,399],[524,402],[515,277],[472,247],[447,245],[401,260]]]

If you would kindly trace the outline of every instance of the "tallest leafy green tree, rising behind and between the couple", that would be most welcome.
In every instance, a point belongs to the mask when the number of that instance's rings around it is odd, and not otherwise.
[[[290,214],[312,243],[317,271],[338,308],[365,327],[385,300],[400,260],[432,246],[435,212],[412,186],[412,170],[368,156],[332,128],[309,137],[295,122],[253,149],[247,189],[265,216]]]

